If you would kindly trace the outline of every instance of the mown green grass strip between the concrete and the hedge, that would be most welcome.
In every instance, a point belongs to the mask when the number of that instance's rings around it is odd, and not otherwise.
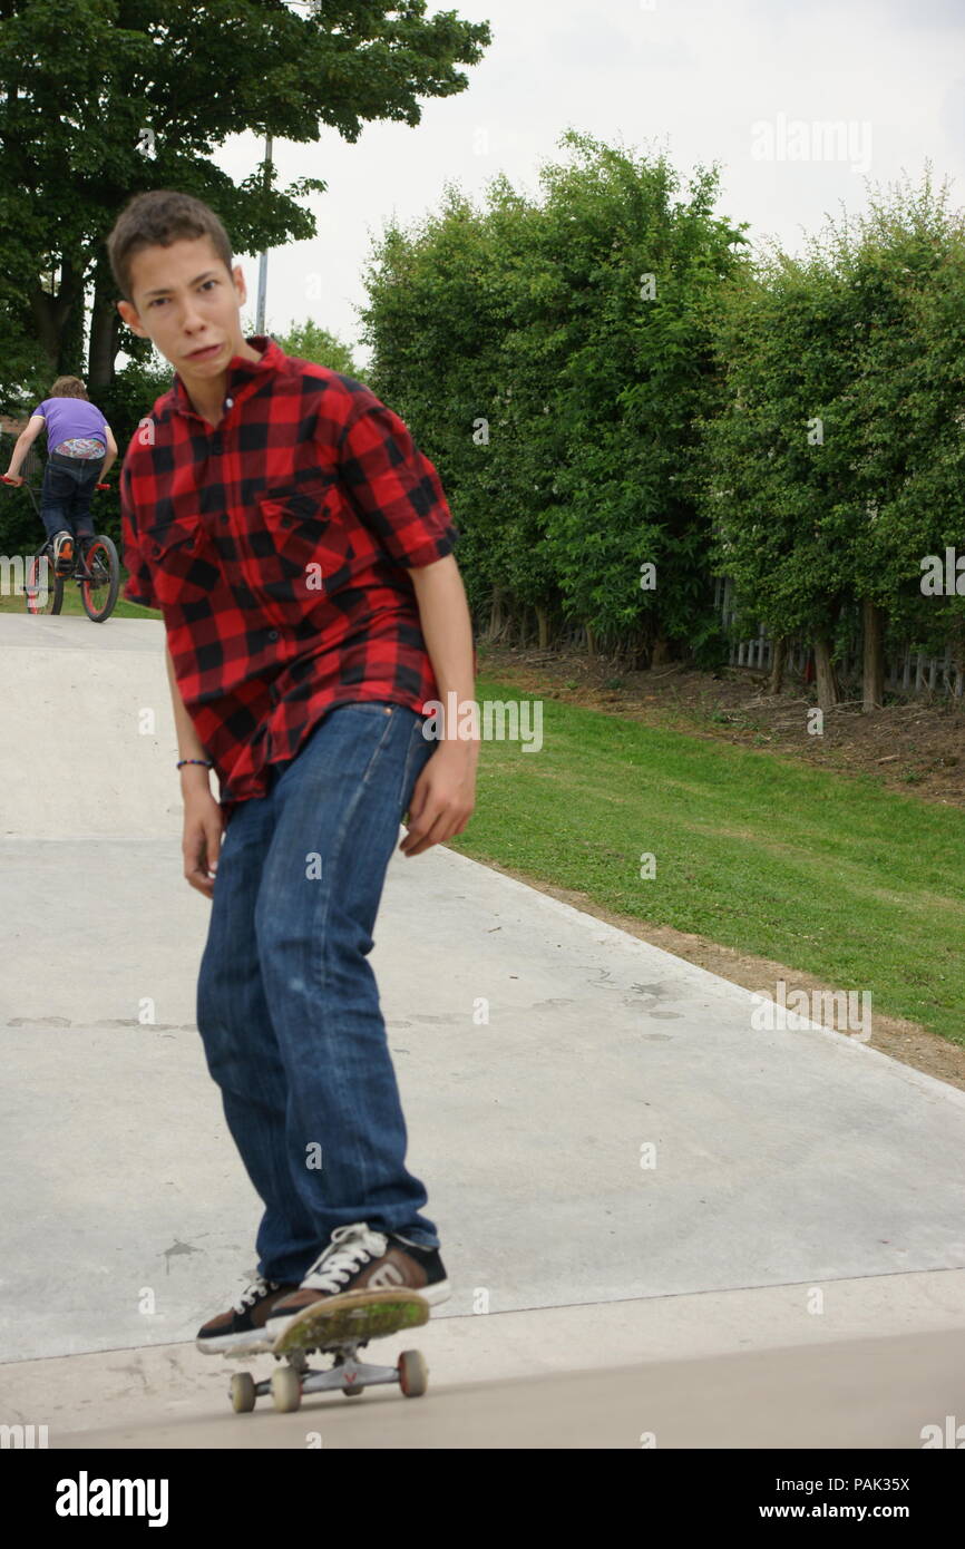
[[[533,699],[483,677],[476,694]],[[541,751],[483,745],[476,812],[454,849],[835,990],[869,990],[872,1013],[965,1044],[965,812],[871,776],[542,706]],[[640,877],[644,852],[657,857],[652,881]]]

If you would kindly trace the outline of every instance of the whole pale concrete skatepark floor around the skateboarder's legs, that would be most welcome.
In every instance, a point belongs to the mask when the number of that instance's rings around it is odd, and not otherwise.
[[[14,1180],[0,1422],[53,1414],[56,1366],[56,1424],[91,1442],[133,1445],[104,1441],[105,1427],[153,1425],[164,1393],[175,1417],[217,1430],[226,1368],[215,1397],[212,1360],[191,1340],[249,1278],[260,1205],[194,1019],[209,906],[181,878],[163,626],[0,615],[0,674],[15,733],[0,751],[0,1160]],[[810,1389],[815,1434],[832,1417],[833,1434],[853,1428],[850,1442],[815,1445],[920,1445],[925,1411],[951,1413],[939,1374],[953,1358],[960,1372],[965,1331],[965,1094],[841,1033],[756,1032],[747,990],[441,847],[395,855],[372,962],[409,1166],[429,1187],[454,1286],[420,1337],[431,1394],[395,1405],[392,1425],[420,1427],[410,1445],[446,1445],[469,1396],[457,1389],[472,1388],[479,1413],[477,1389],[508,1380],[524,1351],[522,1369],[542,1379],[652,1363],[668,1403],[682,1358],[736,1357],[720,1372],[728,1391],[748,1385],[743,1434],[770,1445],[796,1445],[765,1419],[779,1385],[768,1399],[751,1366],[740,1377],[740,1352],[787,1351],[804,1380],[810,1345],[830,1340],[841,1372],[864,1372],[844,1383],[850,1403],[829,1388],[824,1410]],[[488,1025],[472,1021],[479,996]],[[641,1166],[646,1145],[655,1166]],[[945,1366],[919,1360],[919,1335],[922,1349],[950,1341]],[[878,1363],[886,1340],[898,1341],[894,1368]],[[874,1372],[903,1363],[919,1376],[901,1379],[908,1402],[895,1394],[892,1410]],[[644,1376],[620,1385],[621,1425],[640,1383],[651,1391]],[[606,1408],[607,1385],[595,1391]],[[565,1410],[553,1383],[525,1394],[547,1425]],[[375,1389],[362,1405],[389,1414],[397,1399]],[[493,1402],[488,1439],[466,1420],[462,1445],[503,1445],[499,1414],[524,1400],[507,1389]],[[683,1437],[672,1445],[720,1445],[700,1405],[660,1413]],[[218,1441],[192,1433],[186,1445],[274,1445],[302,1417],[266,1413],[271,1439],[252,1442],[268,1434],[260,1411],[228,1414]],[[785,1436],[799,1417],[788,1410]],[[345,1445],[398,1445],[358,1417],[339,1425]],[[871,1439],[898,1433],[909,1439]],[[593,1427],[570,1434],[544,1444],[599,1445]]]

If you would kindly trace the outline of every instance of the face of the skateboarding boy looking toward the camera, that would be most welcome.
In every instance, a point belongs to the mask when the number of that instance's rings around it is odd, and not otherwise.
[[[211,237],[141,248],[130,260],[130,287],[133,302],[119,301],[118,311],[136,335],[153,339],[186,387],[220,376],[232,355],[252,353],[242,336],[245,276],[239,263],[228,273]]]

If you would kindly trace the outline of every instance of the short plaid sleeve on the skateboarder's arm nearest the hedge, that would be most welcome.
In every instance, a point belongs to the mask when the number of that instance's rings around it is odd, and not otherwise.
[[[400,564],[431,565],[458,531],[434,465],[403,420],[359,387],[339,438],[339,477],[359,519]]]

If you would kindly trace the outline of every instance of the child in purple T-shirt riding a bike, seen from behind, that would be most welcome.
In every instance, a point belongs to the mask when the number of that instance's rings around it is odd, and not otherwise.
[[[40,517],[53,545],[54,572],[70,575],[74,542],[87,548],[94,536],[90,500],[94,485],[107,477],[118,457],[118,443],[101,410],[88,400],[81,378],[57,376],[50,397],[37,404],[17,437],[6,471],[14,483],[23,483],[17,469],[43,429],[48,457]]]

